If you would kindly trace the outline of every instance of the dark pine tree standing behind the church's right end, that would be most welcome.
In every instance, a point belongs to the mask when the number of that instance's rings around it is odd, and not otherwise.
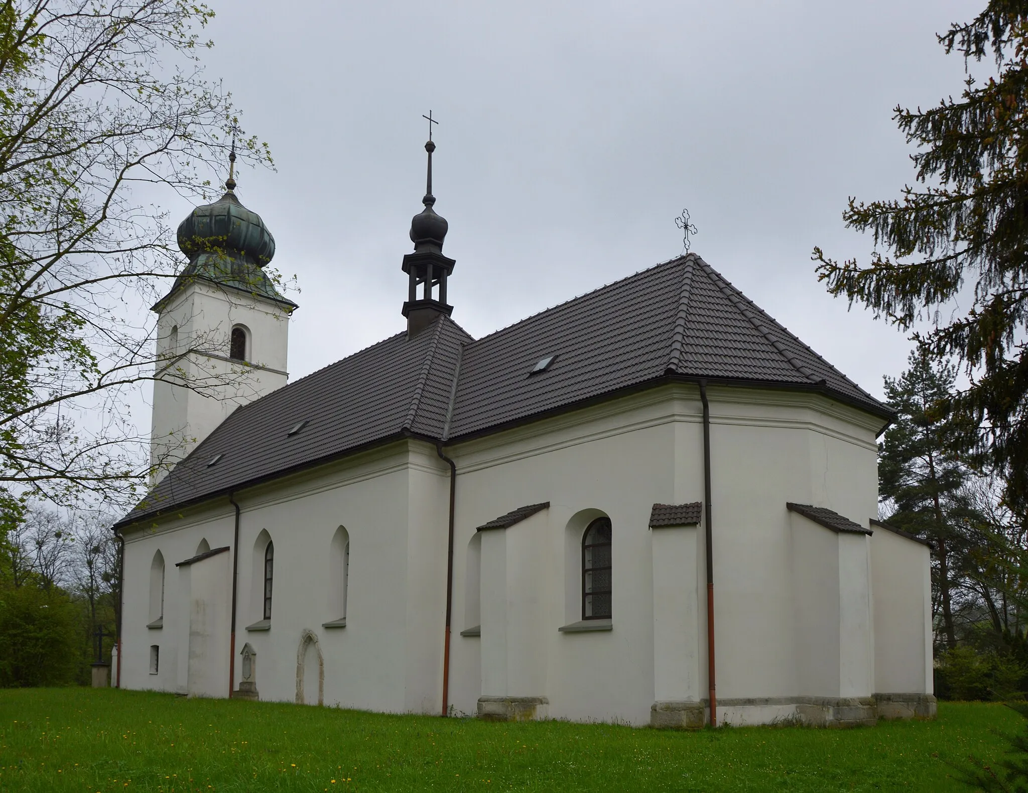
[[[954,562],[966,541],[957,518],[965,511],[966,467],[953,454],[959,427],[944,405],[953,393],[955,367],[934,365],[924,353],[911,353],[910,368],[897,380],[885,377],[888,405],[896,411],[879,448],[879,493],[886,519],[898,529],[934,544],[932,588],[939,599],[946,646],[956,646],[953,588]]]

